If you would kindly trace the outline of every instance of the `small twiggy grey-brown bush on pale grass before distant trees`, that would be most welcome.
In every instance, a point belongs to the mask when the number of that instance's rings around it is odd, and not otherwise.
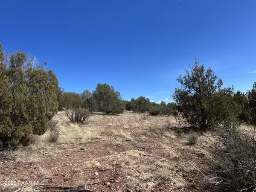
[[[73,123],[87,123],[90,117],[90,111],[85,108],[72,108],[66,111],[66,116]]]

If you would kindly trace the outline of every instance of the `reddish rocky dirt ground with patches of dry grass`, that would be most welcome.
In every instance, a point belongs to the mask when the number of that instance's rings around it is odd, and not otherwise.
[[[2,155],[0,181],[25,184],[2,183],[1,191],[54,191],[26,181],[98,192],[207,191],[203,170],[210,162],[214,140],[210,133],[188,145],[189,129],[172,116],[143,120],[137,113],[96,113],[81,125],[70,123],[61,111],[54,119],[61,130],[56,143],[49,142],[47,131],[33,137],[29,146]]]

